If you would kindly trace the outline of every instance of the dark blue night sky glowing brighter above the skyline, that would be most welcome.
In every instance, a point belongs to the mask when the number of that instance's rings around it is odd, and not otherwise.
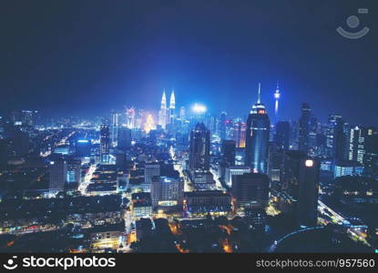
[[[163,87],[177,106],[248,114],[261,82],[272,115],[302,102],[378,126],[376,0],[1,1],[0,112],[100,116],[124,106],[158,110]],[[375,3],[375,4],[374,4]],[[369,8],[359,15],[358,8]],[[358,15],[358,40],[336,27]]]

